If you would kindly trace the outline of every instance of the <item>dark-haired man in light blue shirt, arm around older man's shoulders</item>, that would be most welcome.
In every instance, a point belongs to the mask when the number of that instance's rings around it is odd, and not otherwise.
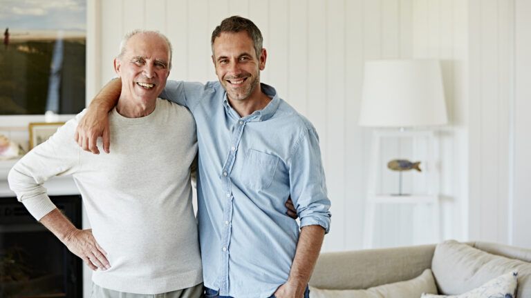
[[[308,297],[330,224],[317,132],[274,88],[260,83],[267,53],[252,21],[227,18],[211,41],[219,81],[169,82],[162,93],[187,106],[198,127],[205,295]],[[95,141],[103,135],[109,152],[104,123],[119,92],[120,81],[112,81],[91,104],[77,130],[85,150],[99,152]],[[167,150],[172,148],[159,152]],[[301,219],[300,234],[284,215],[289,196]]]

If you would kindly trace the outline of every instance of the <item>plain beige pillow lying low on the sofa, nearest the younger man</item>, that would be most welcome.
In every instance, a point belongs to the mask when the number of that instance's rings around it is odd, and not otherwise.
[[[414,279],[367,290],[324,290],[310,286],[310,298],[402,298],[420,297],[422,292],[437,294],[434,275],[429,269]]]

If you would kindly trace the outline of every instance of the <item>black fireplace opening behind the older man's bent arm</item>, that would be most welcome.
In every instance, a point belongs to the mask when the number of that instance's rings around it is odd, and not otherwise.
[[[81,228],[81,196],[52,196]],[[0,198],[0,297],[82,297],[82,260],[14,197]]]

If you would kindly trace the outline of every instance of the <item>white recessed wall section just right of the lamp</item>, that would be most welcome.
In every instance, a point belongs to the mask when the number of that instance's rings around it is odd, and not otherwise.
[[[467,238],[467,11],[462,0],[413,1],[413,57],[439,59],[445,86],[449,126],[438,134],[444,239]]]

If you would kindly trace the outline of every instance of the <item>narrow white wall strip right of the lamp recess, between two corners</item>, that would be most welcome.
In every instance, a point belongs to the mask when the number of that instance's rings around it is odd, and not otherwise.
[[[469,238],[509,242],[514,1],[469,1]]]

